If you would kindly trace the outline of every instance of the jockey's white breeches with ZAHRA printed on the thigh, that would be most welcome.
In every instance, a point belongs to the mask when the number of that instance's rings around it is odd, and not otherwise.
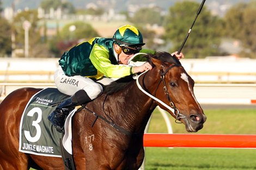
[[[62,68],[59,67],[54,73],[54,81],[57,86],[57,89],[65,95],[72,96],[78,90],[83,89],[87,92],[87,95],[90,97],[90,99],[95,99],[103,91],[103,87],[96,82],[99,82],[103,85],[107,85],[111,83],[113,80],[104,77],[99,81],[95,82],[92,79],[83,77],[81,75],[68,77],[65,75]]]

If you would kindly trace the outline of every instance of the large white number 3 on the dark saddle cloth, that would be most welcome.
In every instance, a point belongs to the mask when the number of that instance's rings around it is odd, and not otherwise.
[[[40,128],[40,125],[38,123],[40,123],[41,120],[42,120],[42,110],[40,108],[33,108],[33,109],[31,109],[31,111],[28,112],[27,116],[33,117],[35,113],[38,114],[38,118],[35,121],[32,122],[33,127],[35,127],[35,129],[36,129],[35,136],[32,137],[30,135],[29,131],[24,130],[24,135],[25,135],[25,137],[27,138],[27,140],[29,142],[36,142],[36,141],[39,140],[39,138],[41,136],[41,128]]]

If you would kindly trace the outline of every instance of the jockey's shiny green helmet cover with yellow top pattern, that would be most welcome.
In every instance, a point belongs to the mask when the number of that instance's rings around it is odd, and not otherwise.
[[[113,40],[118,45],[127,45],[127,46],[143,46],[143,37],[141,32],[130,25],[124,25],[117,29],[113,35]]]

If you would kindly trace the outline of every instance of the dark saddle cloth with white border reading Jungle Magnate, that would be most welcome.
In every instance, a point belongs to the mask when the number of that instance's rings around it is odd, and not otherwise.
[[[62,157],[60,148],[62,133],[59,133],[48,121],[48,115],[57,108],[57,105],[51,106],[51,104],[62,102],[67,97],[69,96],[59,92],[56,88],[46,88],[32,96],[21,117],[20,152]],[[66,119],[66,133],[63,136],[64,148],[70,154],[72,154],[72,134],[69,133],[71,132],[71,117],[75,112],[76,109],[71,111]]]

